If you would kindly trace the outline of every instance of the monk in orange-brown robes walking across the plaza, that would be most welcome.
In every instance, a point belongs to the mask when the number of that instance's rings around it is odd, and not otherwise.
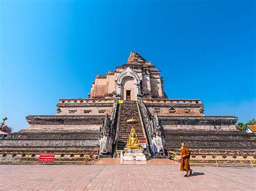
[[[188,161],[190,160],[190,150],[188,150],[186,144],[182,142],[179,151],[181,151],[180,171],[186,171],[187,173],[184,176],[188,177],[192,174],[192,169],[190,168],[190,164],[188,163]],[[190,174],[188,174],[188,172]]]

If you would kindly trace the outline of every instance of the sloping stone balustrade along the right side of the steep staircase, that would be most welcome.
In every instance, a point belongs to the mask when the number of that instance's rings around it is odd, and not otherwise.
[[[140,115],[140,120],[143,123],[143,127],[144,127],[144,132],[146,135],[146,139],[147,139],[147,147],[148,147],[148,153],[149,155],[152,155],[152,151],[151,151],[151,125],[150,125],[150,116],[149,113],[147,112],[146,109],[146,105],[143,102],[143,100],[139,100],[138,103],[138,108],[139,108],[139,115]]]

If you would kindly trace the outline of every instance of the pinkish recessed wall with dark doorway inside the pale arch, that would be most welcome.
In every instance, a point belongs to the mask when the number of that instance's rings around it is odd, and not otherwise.
[[[131,77],[126,77],[123,81],[122,100],[137,100],[136,84]]]

